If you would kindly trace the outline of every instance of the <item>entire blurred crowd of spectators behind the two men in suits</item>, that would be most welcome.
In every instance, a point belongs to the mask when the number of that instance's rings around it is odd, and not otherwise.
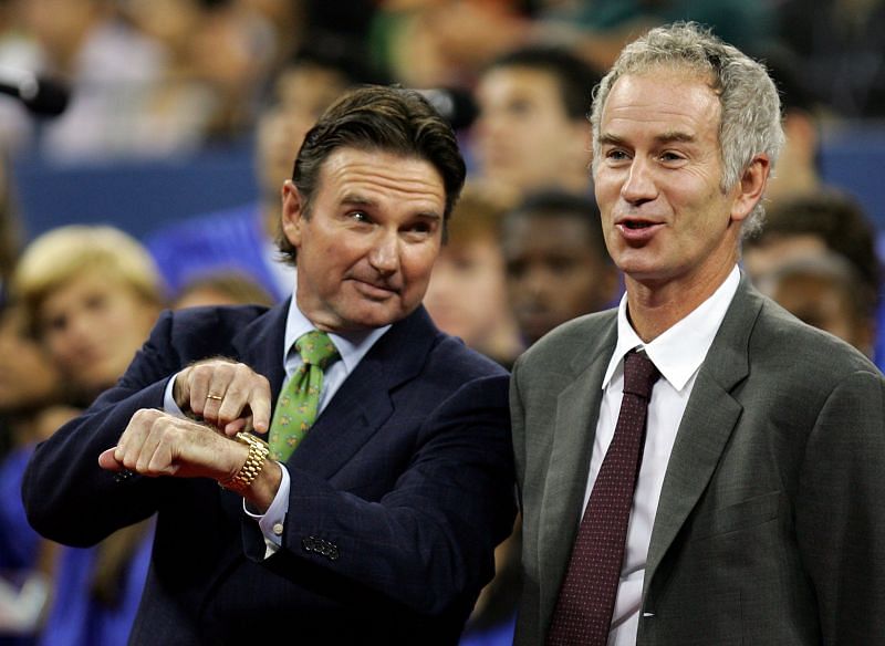
[[[163,308],[279,302],[280,187],[345,88],[399,83],[452,119],[468,186],[425,304],[509,366],[554,326],[618,302],[587,167],[591,92],[624,42],[691,19],[769,65],[787,148],[743,269],[808,323],[885,363],[877,231],[821,176],[823,124],[885,116],[879,0],[0,0],[0,645],[121,644],[150,522],[91,549],[48,544],[19,498],[35,442],[112,385]],[[58,116],[10,94],[70,87]],[[252,204],[158,228],[27,239],[10,162],[64,164],[253,144]],[[51,190],[51,187],[46,187]],[[90,209],[83,204],[84,221]],[[509,644],[519,528],[464,643]]]

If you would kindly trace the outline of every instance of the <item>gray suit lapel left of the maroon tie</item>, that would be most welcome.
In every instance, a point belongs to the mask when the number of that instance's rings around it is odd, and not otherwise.
[[[584,490],[590,472],[593,439],[602,400],[602,381],[617,340],[616,314],[598,330],[587,330],[592,353],[577,356],[570,368],[574,381],[556,399],[553,446],[540,519],[541,607],[555,606],[583,514]],[[543,617],[545,622],[549,617]]]

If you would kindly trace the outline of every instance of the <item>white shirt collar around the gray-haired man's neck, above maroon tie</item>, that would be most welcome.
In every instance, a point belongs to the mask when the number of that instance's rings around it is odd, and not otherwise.
[[[725,282],[709,299],[650,343],[643,343],[627,320],[627,295],[624,294],[617,309],[617,344],[605,371],[603,389],[608,386],[615,371],[622,365],[624,355],[631,350],[642,347],[660,371],[662,376],[676,390],[681,390],[704,363],[704,357],[707,356],[707,351],[710,350],[728,306],[738,291],[738,283],[740,283],[740,270],[735,265]]]

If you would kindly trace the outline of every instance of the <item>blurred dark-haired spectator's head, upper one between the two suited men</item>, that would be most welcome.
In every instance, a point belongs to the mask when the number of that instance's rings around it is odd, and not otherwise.
[[[492,62],[476,87],[475,184],[509,205],[542,188],[590,195],[586,112],[598,80],[560,49],[517,50]]]

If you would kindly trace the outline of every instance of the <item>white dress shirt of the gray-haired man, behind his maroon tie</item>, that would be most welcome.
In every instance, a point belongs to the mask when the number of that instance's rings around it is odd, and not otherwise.
[[[627,528],[624,563],[608,637],[610,646],[636,644],[645,562],[667,462],[698,371],[739,282],[740,270],[736,265],[709,299],[650,343],[643,343],[629,324],[626,295],[621,300],[617,312],[617,345],[602,383],[604,392],[593,440],[584,509],[615,433],[624,394],[624,355],[636,347],[645,348],[648,358],[660,371],[662,378],[655,384],[648,403],[645,449]]]

